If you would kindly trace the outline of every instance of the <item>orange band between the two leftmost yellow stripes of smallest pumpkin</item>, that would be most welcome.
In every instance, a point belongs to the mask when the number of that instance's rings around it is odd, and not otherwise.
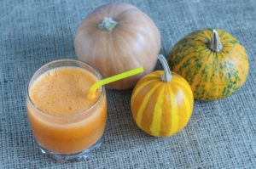
[[[142,118],[143,118],[143,110],[146,108],[149,98],[154,93],[156,88],[159,86],[160,86],[160,84],[155,85],[151,90],[148,91],[147,95],[143,98],[142,104],[139,107],[139,109],[137,110],[137,116],[135,117],[138,127],[142,127],[141,122],[142,122]]]

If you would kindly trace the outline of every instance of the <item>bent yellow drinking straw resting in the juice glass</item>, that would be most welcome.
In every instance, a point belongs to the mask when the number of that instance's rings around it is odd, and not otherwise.
[[[140,68],[137,68],[137,69],[134,69],[134,70],[125,71],[125,72],[120,73],[120,74],[115,75],[115,76],[110,76],[106,79],[102,79],[101,81],[97,81],[90,87],[88,95],[89,95],[90,98],[94,98],[97,88],[102,87],[103,85],[106,85],[110,82],[119,81],[119,80],[124,79],[126,77],[137,75],[139,73],[142,73],[143,71],[144,71],[143,67],[140,67]]]

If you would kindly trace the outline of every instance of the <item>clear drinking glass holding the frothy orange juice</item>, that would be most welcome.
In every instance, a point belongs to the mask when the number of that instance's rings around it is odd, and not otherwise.
[[[105,88],[87,110],[73,115],[52,115],[40,110],[31,99],[30,87],[45,72],[63,66],[73,66],[87,70],[101,80],[102,76],[92,66],[74,59],[55,60],[37,70],[27,86],[27,115],[34,138],[43,154],[58,161],[80,161],[92,149],[99,148],[107,122],[107,100]],[[84,84],[86,86],[86,84]]]

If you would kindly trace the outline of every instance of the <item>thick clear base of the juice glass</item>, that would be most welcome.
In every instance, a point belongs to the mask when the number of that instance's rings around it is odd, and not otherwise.
[[[55,159],[56,161],[61,161],[61,162],[67,162],[67,161],[84,161],[89,155],[90,152],[94,149],[99,149],[102,145],[102,138],[99,139],[96,144],[93,144],[90,146],[90,148],[85,149],[84,151],[81,151],[76,154],[71,154],[71,155],[63,155],[63,154],[58,154],[50,151],[49,149],[44,149],[44,147],[40,146],[39,149],[44,155],[48,155],[49,157]]]

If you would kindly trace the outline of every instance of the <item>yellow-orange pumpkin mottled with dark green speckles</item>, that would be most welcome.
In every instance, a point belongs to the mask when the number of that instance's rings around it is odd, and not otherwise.
[[[223,30],[195,31],[177,42],[170,67],[190,84],[195,99],[216,100],[235,93],[246,81],[248,59],[235,37]]]

